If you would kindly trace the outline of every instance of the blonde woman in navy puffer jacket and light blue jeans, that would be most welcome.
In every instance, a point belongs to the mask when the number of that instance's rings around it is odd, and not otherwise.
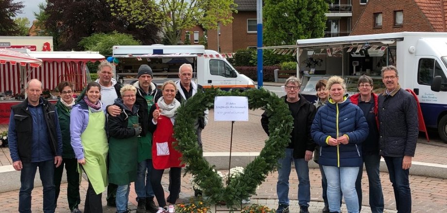
[[[340,213],[340,188],[348,213],[359,212],[355,181],[361,160],[361,142],[368,136],[363,112],[345,94],[343,78],[332,76],[327,81],[329,99],[315,115],[310,129],[313,140],[320,145],[318,162],[327,178],[329,211]]]

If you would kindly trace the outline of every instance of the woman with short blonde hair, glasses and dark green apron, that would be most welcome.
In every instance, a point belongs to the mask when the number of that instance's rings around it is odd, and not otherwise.
[[[130,183],[137,179],[138,140],[141,126],[138,121],[138,105],[135,105],[137,89],[125,85],[120,89],[121,98],[115,100],[121,114],[109,117],[109,182],[118,185],[117,213],[127,212]]]

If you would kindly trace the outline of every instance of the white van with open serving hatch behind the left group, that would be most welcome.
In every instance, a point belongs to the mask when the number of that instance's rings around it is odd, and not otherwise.
[[[179,67],[189,63],[196,83],[204,88],[255,88],[253,80],[236,71],[225,56],[205,50],[203,45],[113,46],[113,57],[120,61],[116,66],[117,77],[125,81],[136,80],[139,66],[147,64],[154,72],[153,81],[160,85],[167,80],[177,80]]]

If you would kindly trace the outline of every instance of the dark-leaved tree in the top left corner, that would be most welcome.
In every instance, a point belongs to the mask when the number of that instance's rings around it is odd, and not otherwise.
[[[17,35],[17,24],[14,18],[22,13],[23,2],[15,0],[0,1],[0,35]]]

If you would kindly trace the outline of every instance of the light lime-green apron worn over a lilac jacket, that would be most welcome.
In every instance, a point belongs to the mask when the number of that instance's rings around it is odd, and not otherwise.
[[[82,165],[86,171],[97,195],[104,192],[107,186],[107,135],[105,134],[105,114],[103,112],[92,113],[88,108],[88,124],[81,134],[81,143],[84,148],[86,164]]]

